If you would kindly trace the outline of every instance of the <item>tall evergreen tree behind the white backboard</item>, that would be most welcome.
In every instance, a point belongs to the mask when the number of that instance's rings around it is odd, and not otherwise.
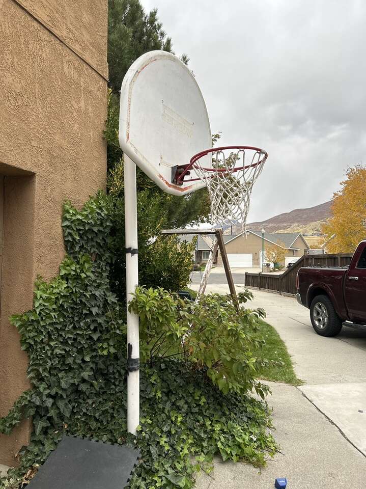
[[[110,94],[105,131],[107,163],[109,172],[114,172],[118,166],[118,175],[123,179],[121,171],[123,153],[118,143],[119,91],[123,77],[133,61],[144,52],[153,49],[168,52],[173,52],[173,50],[172,40],[162,29],[156,9],[147,14],[138,0],[109,0],[108,8]],[[189,58],[183,54],[181,60],[187,64]],[[116,185],[118,175],[114,174],[114,185]],[[123,188],[122,181],[120,186]],[[149,192],[152,201],[156,199],[157,205],[162,206],[162,227],[178,228],[208,220],[210,202],[206,189],[185,197],[168,195],[162,192],[142,171],[138,170],[137,193],[146,191]],[[146,219],[146,216],[139,216],[139,219]],[[161,223],[159,226],[157,223],[156,227],[161,227]]]

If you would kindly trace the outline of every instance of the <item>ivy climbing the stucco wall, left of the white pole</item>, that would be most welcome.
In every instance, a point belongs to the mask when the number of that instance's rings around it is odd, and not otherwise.
[[[43,460],[71,418],[74,434],[85,432],[77,420],[92,419],[100,389],[110,388],[104,378],[110,378],[106,373],[118,359],[108,354],[117,351],[121,333],[118,305],[108,280],[108,207],[102,193],[81,210],[65,204],[62,227],[67,256],[60,273],[49,283],[39,278],[34,309],[11,318],[29,355],[27,375],[33,387],[0,420],[0,432],[9,434],[21,419],[33,417],[31,450],[21,451],[26,454],[22,466]],[[105,413],[107,421],[112,413],[107,408]],[[91,423],[87,431],[92,428]]]

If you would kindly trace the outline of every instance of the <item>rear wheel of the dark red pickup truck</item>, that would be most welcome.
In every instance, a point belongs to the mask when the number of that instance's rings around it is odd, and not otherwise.
[[[342,320],[326,295],[314,297],[310,306],[310,319],[318,335],[336,336],[342,330]]]

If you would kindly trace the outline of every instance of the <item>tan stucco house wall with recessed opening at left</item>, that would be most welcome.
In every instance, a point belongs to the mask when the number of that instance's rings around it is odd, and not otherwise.
[[[7,175],[0,416],[28,386],[27,358],[8,317],[32,307],[37,274],[50,278],[58,271],[65,198],[81,205],[104,188],[106,175],[107,1],[22,4],[39,21],[17,2],[0,0],[0,174]],[[15,464],[29,428],[23,423],[11,436],[0,435],[0,463]]]

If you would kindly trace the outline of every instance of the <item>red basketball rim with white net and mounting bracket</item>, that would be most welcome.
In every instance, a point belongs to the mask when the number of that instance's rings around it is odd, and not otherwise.
[[[211,167],[207,167],[204,158],[209,154]],[[244,234],[251,191],[267,156],[266,151],[252,146],[210,148],[192,156],[189,165],[174,167],[173,182],[182,185],[201,180],[210,196],[212,221],[221,225],[241,224]],[[191,170],[194,178],[190,178]]]

